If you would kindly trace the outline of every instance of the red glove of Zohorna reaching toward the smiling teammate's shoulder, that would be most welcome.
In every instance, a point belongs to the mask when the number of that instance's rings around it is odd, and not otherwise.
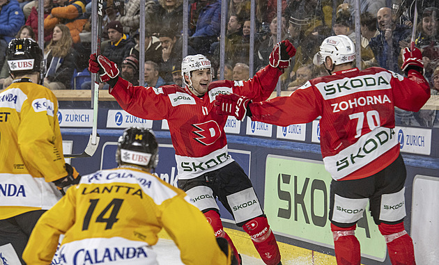
[[[215,111],[219,115],[235,116],[242,122],[247,113],[247,105],[251,102],[248,97],[236,94],[219,94],[215,99]]]

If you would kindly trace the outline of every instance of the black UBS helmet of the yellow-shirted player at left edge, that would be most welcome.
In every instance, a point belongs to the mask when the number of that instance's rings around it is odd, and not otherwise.
[[[45,74],[43,51],[38,43],[31,38],[11,40],[6,51],[6,60],[8,60],[10,73],[38,72]]]

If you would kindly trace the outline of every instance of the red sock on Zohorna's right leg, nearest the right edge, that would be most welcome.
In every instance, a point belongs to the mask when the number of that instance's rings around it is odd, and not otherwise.
[[[415,265],[415,251],[412,238],[404,230],[404,223],[387,225],[380,223],[378,229],[385,238],[390,262],[394,265]]]

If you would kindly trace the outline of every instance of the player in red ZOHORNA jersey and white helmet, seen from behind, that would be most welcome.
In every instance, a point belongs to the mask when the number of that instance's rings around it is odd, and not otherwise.
[[[429,99],[419,49],[403,51],[407,78],[380,67],[352,67],[355,45],[345,35],[326,38],[314,63],[330,76],[307,81],[289,97],[253,102],[239,95],[219,95],[217,113],[286,127],[321,116],[321,152],[332,175],[330,221],[338,264],[360,264],[356,223],[367,202],[385,238],[392,264],[415,264],[413,241],[404,230],[406,166],[394,132],[394,107],[419,111]],[[347,214],[341,209],[359,209]]]

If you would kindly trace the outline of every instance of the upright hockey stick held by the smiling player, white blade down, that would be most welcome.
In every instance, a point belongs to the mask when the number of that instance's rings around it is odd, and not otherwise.
[[[96,10],[97,9],[97,10]],[[93,20],[95,21],[94,24],[97,24],[95,28],[92,29],[92,31],[97,30],[96,35],[96,43],[95,43],[95,54],[98,56],[100,54],[100,39],[102,36],[102,17],[103,17],[103,10],[104,10],[104,1],[98,0],[98,6],[93,4],[92,6],[92,14],[97,14],[98,17],[96,19],[95,15],[92,15],[92,24]],[[94,45],[92,43],[91,45],[92,53]],[[93,80],[94,79],[94,80]],[[98,74],[93,74],[92,76],[92,83],[93,87],[91,88],[91,94],[93,97],[91,98],[91,104],[93,105],[93,127],[91,129],[91,135],[90,138],[88,138],[87,146],[84,149],[84,152],[82,154],[65,154],[64,157],[66,158],[77,158],[77,157],[90,157],[95,154],[96,150],[98,149],[100,136],[98,134],[98,97],[99,97],[99,77]]]

